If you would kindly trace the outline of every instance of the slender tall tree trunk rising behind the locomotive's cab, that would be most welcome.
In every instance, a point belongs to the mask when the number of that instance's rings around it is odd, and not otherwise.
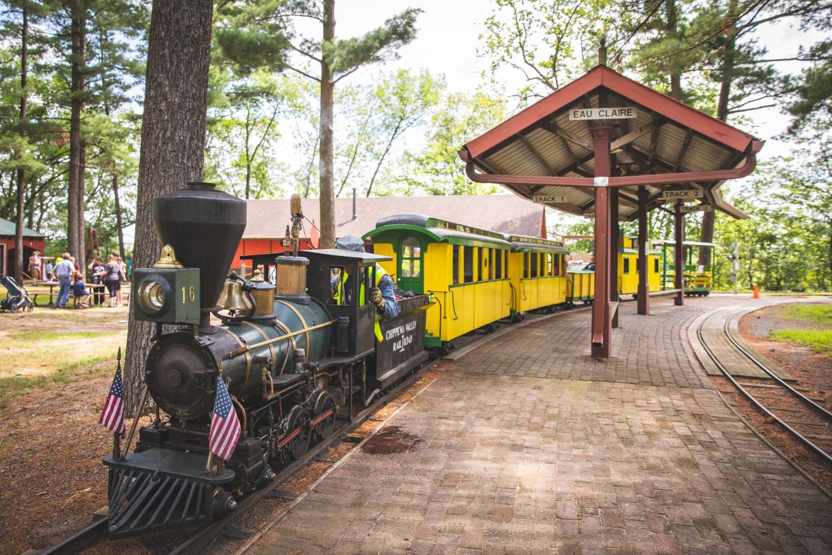
[[[324,52],[335,39],[335,0],[324,0]],[[320,62],[320,248],[329,249],[335,237],[335,187],[333,180],[334,83],[327,57]]]

